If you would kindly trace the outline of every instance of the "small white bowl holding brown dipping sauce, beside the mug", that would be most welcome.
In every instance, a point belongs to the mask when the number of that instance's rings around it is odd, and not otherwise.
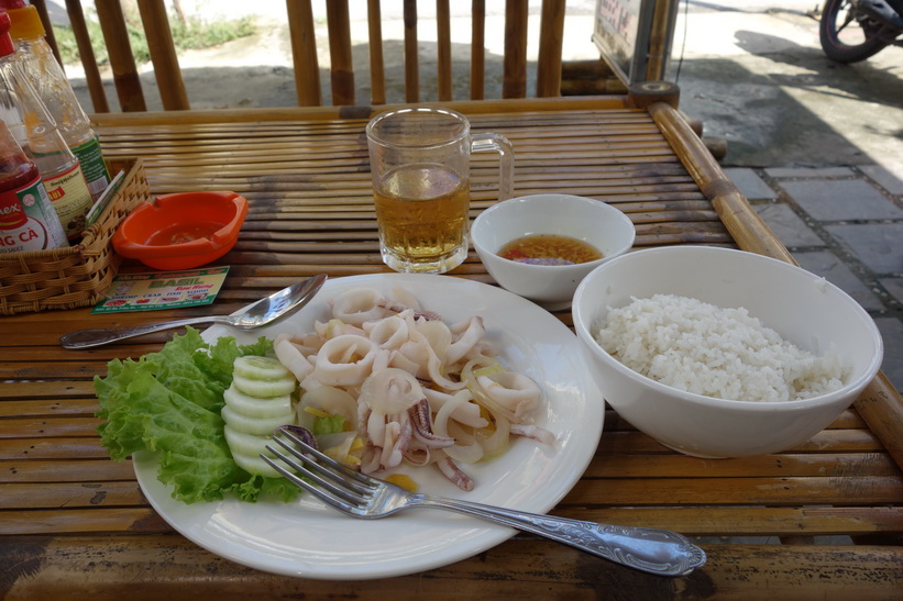
[[[509,242],[536,234],[583,241],[602,252],[602,258],[573,265],[536,265],[498,255]],[[550,311],[569,308],[583,278],[628,252],[635,237],[634,224],[621,211],[601,200],[571,194],[505,200],[477,215],[471,227],[474,249],[493,279]]]

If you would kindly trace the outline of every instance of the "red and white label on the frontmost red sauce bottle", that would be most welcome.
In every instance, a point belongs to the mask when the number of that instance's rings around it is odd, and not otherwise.
[[[41,178],[0,192],[0,253],[66,246],[66,236]]]

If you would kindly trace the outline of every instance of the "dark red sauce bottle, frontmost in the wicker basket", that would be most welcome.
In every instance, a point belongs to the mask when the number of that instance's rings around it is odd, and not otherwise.
[[[37,167],[0,121],[0,254],[68,246]]]

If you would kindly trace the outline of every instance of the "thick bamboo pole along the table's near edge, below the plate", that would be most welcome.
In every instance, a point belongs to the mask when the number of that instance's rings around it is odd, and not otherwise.
[[[704,567],[687,577],[662,579],[612,561],[587,564],[586,555],[571,547],[516,537],[426,577],[345,581],[262,575],[175,534],[16,537],[9,544],[20,565],[34,566],[10,575],[10,598],[54,598],[65,591],[108,601],[140,590],[169,601],[297,596],[407,600],[443,598],[453,590],[463,598],[528,599],[541,587],[550,598],[583,599],[617,597],[627,587],[638,599],[751,599],[767,590],[775,599],[806,601],[888,599],[903,587],[903,549],[876,545],[858,546],[856,555],[849,546],[703,545],[708,557]]]

